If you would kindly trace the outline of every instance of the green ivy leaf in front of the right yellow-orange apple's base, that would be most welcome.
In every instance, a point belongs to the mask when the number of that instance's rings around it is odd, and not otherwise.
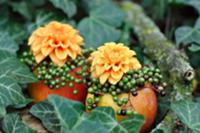
[[[143,116],[135,114],[119,124],[115,118],[114,110],[103,107],[94,109],[89,119],[98,121],[109,132],[113,133],[138,133],[144,122]]]

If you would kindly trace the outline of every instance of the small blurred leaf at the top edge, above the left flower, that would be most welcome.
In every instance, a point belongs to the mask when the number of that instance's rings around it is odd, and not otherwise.
[[[76,14],[76,4],[73,0],[50,0],[50,2],[56,7],[61,9],[69,17]]]

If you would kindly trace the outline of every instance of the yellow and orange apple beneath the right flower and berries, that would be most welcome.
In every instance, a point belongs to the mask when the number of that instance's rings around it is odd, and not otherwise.
[[[87,98],[94,98],[92,94],[88,94]],[[155,120],[157,113],[157,97],[152,89],[152,86],[148,83],[144,87],[137,91],[137,96],[132,96],[131,93],[122,93],[118,95],[119,99],[128,98],[129,101],[126,105],[119,107],[110,94],[104,94],[100,97],[98,106],[100,107],[112,107],[117,114],[117,111],[121,108],[132,108],[138,114],[145,117],[145,122],[140,129],[140,133],[147,133]],[[87,106],[87,103],[86,103]],[[90,112],[86,110],[87,112]],[[127,116],[116,115],[117,120],[120,122]]]

